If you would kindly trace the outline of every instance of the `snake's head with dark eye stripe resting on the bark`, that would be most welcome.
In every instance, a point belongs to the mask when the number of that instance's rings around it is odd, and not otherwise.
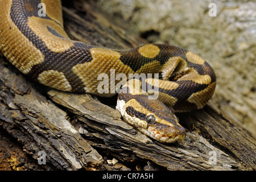
[[[155,140],[181,143],[185,138],[177,117],[159,100],[148,100],[142,94],[125,97],[119,94],[117,110],[126,122]]]

